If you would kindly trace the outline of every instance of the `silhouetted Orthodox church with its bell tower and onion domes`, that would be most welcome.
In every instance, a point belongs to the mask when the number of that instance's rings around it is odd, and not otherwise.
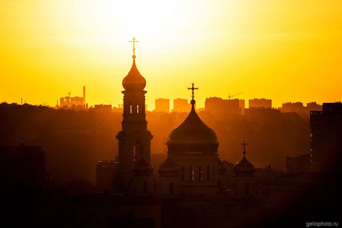
[[[196,113],[194,91],[198,88],[194,88],[194,84],[188,88],[192,90],[191,111],[183,123],[169,134],[167,159],[159,165],[159,175],[153,174],[154,167],[150,163],[153,135],[147,130],[145,113],[146,80],[135,65],[134,53],[132,58],[132,68],[122,80],[123,120],[122,130],[116,135],[119,164],[111,183],[112,190],[141,196],[177,198],[180,194],[213,195],[220,193],[221,188],[227,189],[227,165],[218,157],[219,141],[216,133]],[[239,174],[229,183],[230,187],[235,185],[233,192],[242,195],[253,192],[247,189],[246,183],[254,179],[254,171],[249,171],[252,174],[248,175],[239,171],[248,168],[254,170],[254,166],[246,161],[244,155],[236,164]],[[246,165],[247,168],[244,167]],[[250,182],[252,186],[253,180]],[[245,186],[244,191],[241,186]]]

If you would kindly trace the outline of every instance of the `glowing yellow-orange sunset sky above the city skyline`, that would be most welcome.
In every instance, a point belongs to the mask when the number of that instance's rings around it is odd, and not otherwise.
[[[132,65],[146,103],[206,97],[342,100],[342,1],[0,0],[0,102],[122,103]],[[170,109],[172,108],[172,102]]]

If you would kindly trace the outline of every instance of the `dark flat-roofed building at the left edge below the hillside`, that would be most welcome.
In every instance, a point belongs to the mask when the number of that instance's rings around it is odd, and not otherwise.
[[[41,146],[0,146],[0,185],[43,186],[45,151]]]

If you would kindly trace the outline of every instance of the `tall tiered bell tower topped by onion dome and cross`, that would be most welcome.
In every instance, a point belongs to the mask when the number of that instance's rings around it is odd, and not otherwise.
[[[144,158],[150,162],[150,145],[153,135],[147,130],[145,113],[145,78],[140,74],[135,65],[135,38],[133,41],[133,64],[128,75],[122,80],[123,93],[123,120],[122,130],[116,135],[119,144],[118,173],[126,179],[124,188],[128,188],[127,179],[132,172],[132,165],[140,159],[140,153],[144,152]],[[126,176],[126,177],[125,177]],[[123,187],[123,186],[122,186]]]

